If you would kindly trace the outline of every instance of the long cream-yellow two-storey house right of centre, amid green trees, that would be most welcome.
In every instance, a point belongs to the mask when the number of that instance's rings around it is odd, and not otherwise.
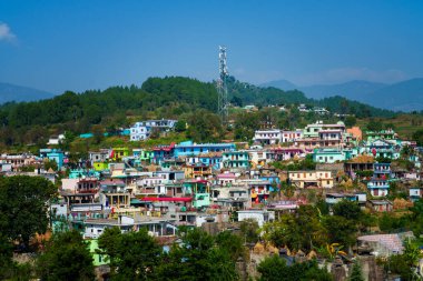
[[[331,171],[292,171],[288,172],[289,181],[297,188],[309,187],[332,189],[334,179]]]

